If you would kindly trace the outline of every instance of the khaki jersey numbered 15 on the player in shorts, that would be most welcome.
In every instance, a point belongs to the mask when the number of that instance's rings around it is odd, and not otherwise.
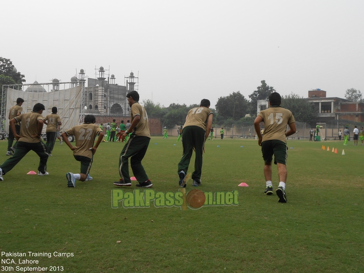
[[[278,139],[286,143],[284,135],[287,124],[294,122],[292,113],[280,106],[271,106],[270,108],[260,111],[258,114],[264,122],[264,134],[262,142],[266,140]]]

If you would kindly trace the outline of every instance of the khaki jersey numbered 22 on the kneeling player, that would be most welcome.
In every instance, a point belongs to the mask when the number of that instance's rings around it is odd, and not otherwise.
[[[73,151],[75,156],[86,156],[92,158],[92,151],[88,150],[93,147],[96,135],[102,132],[99,125],[95,123],[82,123],[68,129],[65,133],[67,136],[75,136],[76,150]]]

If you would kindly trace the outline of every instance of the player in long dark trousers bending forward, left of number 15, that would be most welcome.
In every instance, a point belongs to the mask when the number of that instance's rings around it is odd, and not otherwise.
[[[202,174],[202,152],[204,152],[204,144],[207,137],[210,135],[213,114],[210,107],[210,101],[203,99],[200,107],[191,109],[187,116],[185,124],[183,125],[183,156],[178,163],[178,184],[186,187],[186,174],[190,164],[193,150],[195,150],[195,171],[192,173],[193,183],[192,186],[198,187],[201,185]]]

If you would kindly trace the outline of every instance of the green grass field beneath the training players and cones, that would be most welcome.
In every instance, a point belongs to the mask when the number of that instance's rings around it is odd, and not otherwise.
[[[180,189],[182,143],[174,144],[176,137],[153,137],[144,158],[156,193]],[[119,180],[122,143],[101,143],[90,172],[93,180],[77,181],[76,188],[67,188],[65,174],[79,173],[80,164],[65,144],[56,142],[48,159],[49,176],[27,175],[37,171],[39,162],[30,152],[0,183],[0,272],[15,272],[16,266],[66,273],[363,272],[364,146],[352,141],[348,146],[339,141],[287,144],[288,202],[283,204],[276,195],[263,194],[257,141],[207,141],[199,189],[237,190],[239,205],[198,210],[156,208],[153,202],[149,208],[124,208],[121,203],[112,208],[112,190],[136,189],[135,183],[129,188],[113,185]],[[7,158],[6,146],[7,141],[0,141],[1,162]],[[193,166],[192,161],[189,171]],[[249,187],[238,187],[242,182]],[[191,183],[187,192],[194,188]],[[274,190],[278,183],[274,167]],[[6,257],[9,252],[27,256]],[[28,252],[52,257],[30,257]],[[73,256],[54,257],[58,253]],[[15,264],[7,264],[11,259]],[[39,264],[19,265],[19,259]]]

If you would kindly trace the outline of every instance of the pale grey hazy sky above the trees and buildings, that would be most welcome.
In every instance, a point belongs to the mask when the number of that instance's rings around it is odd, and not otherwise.
[[[140,100],[195,104],[261,80],[282,95],[364,93],[364,0],[1,1],[0,56],[26,83],[110,67]],[[78,76],[78,75],[77,75]]]

